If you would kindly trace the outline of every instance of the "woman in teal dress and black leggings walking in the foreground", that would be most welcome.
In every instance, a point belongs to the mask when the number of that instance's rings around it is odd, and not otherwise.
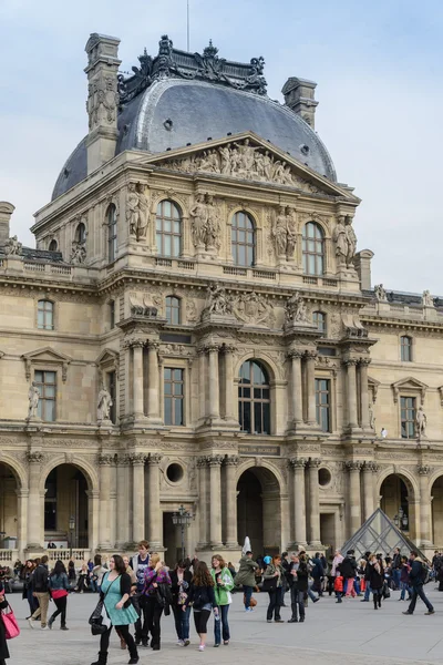
[[[107,649],[110,646],[110,635],[112,627],[127,644],[132,663],[138,663],[137,647],[134,637],[130,633],[130,625],[138,618],[137,613],[131,603],[131,577],[126,573],[123,559],[114,554],[110,561],[110,572],[103,576],[100,597],[104,603],[107,615],[107,630],[102,633],[100,638],[99,659],[91,665],[106,665]]]

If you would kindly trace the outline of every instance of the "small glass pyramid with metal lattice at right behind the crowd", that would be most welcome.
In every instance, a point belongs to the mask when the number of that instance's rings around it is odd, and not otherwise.
[[[356,551],[356,559],[363,556],[364,552],[382,553],[384,556],[392,554],[394,548],[399,548],[401,554],[409,555],[411,550],[419,552],[423,561],[426,556],[418,546],[406,538],[388,515],[378,508],[360,529],[344,543],[341,553],[349,550]]]

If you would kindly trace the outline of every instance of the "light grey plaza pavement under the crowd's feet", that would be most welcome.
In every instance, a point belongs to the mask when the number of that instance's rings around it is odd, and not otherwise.
[[[173,617],[162,618],[162,651],[155,655],[151,649],[140,649],[140,663],[155,657],[156,665],[169,665],[179,658],[181,665],[194,665],[195,659],[231,665],[233,662],[254,665],[395,665],[400,663],[436,663],[443,659],[443,593],[429,584],[426,592],[435,606],[433,616],[424,616],[425,607],[419,600],[415,614],[403,616],[408,603],[398,601],[399,593],[374,611],[372,603],[360,603],[360,598],[347,600],[341,605],[334,598],[324,597],[309,604],[303,624],[266,623],[267,596],[257,595],[258,605],[246,614],[240,604],[240,594],[234,596],[229,611],[231,642],[229,646],[213,648],[213,620],[209,622],[208,646],[205,653],[196,651],[197,638],[192,623],[192,644],[176,646]],[[288,594],[287,600],[289,601]],[[24,617],[28,604],[21,595],[9,596],[19,618],[21,635],[9,643],[11,665],[89,665],[95,659],[99,640],[93,637],[87,625],[97,596],[94,594],[71,595],[68,601],[69,632],[31,630]],[[53,607],[52,603],[51,606]],[[282,607],[282,618],[290,616],[289,607]],[[120,648],[113,633],[109,665],[124,664],[127,652]]]

